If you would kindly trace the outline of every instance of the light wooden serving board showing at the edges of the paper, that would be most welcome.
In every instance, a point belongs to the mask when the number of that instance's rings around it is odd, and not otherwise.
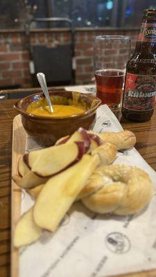
[[[17,175],[17,163],[19,156],[26,150],[26,132],[21,123],[21,116],[15,116],[12,130],[12,176]],[[18,276],[19,251],[13,247],[13,233],[21,212],[21,189],[12,180],[11,202],[11,277]],[[64,276],[65,277],[65,276]],[[156,270],[142,271],[132,274],[122,274],[116,277],[156,277]]]

